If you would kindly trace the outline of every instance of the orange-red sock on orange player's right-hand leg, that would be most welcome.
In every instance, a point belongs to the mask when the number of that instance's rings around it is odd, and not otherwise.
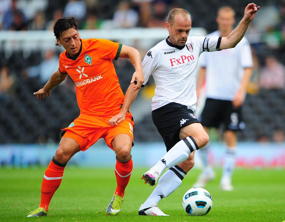
[[[117,162],[115,166],[115,175],[117,179],[117,188],[115,190],[115,194],[124,197],[125,189],[129,183],[133,169],[132,156],[129,158],[129,160],[126,160],[127,162],[118,160],[117,157],[116,159]]]

